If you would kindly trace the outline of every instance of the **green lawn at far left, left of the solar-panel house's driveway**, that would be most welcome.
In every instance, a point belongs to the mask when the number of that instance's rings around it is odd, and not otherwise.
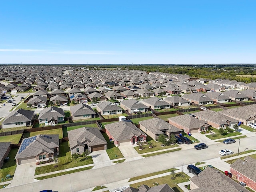
[[[0,178],[3,178],[4,181],[12,180],[12,178],[14,176],[14,172],[17,167],[16,161],[14,161],[14,158],[15,158],[17,152],[18,152],[18,149],[11,149],[10,153],[8,154],[9,161],[4,163],[4,165],[0,169]],[[5,179],[7,174],[11,175],[10,179]]]

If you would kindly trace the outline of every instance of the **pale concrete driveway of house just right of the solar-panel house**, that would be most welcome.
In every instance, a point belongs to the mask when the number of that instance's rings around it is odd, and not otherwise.
[[[102,168],[115,164],[110,161],[110,158],[108,157],[106,150],[94,151],[91,153],[91,156],[94,163],[93,169]]]

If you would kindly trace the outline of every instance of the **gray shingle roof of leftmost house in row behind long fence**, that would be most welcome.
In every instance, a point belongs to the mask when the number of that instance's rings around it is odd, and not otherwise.
[[[18,109],[11,112],[2,122],[2,124],[28,122],[28,121],[31,121],[33,117],[34,117],[34,111]]]

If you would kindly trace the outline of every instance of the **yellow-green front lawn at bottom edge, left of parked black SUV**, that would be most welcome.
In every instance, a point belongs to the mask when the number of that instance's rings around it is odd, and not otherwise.
[[[135,183],[135,184],[131,184],[131,187],[137,188],[138,185],[147,185],[149,187],[154,187],[153,182],[157,182],[158,185],[162,185],[162,184],[168,184],[175,192],[178,191],[183,191],[177,184],[178,183],[183,183],[183,182],[187,182],[189,181],[189,176],[184,174],[184,173],[176,173],[175,174],[175,179],[171,179],[172,175],[168,175],[168,176],[163,176],[163,177],[158,177],[158,178],[154,178],[151,180],[146,180],[146,181],[142,181],[139,183]]]

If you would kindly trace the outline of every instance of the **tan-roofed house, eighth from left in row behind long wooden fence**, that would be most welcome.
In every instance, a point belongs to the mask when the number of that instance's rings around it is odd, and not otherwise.
[[[208,96],[202,93],[191,93],[184,94],[182,98],[188,100],[190,103],[195,103],[198,105],[210,105],[213,104],[213,100],[211,100]]]

